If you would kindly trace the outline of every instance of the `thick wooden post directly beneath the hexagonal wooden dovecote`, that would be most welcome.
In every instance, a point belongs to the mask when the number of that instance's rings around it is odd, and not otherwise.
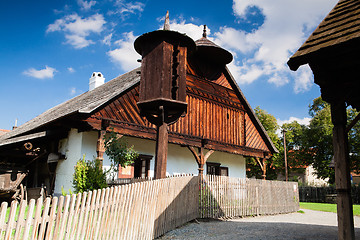
[[[163,122],[157,126],[156,153],[155,153],[155,179],[166,178],[166,162],[168,152],[168,124]]]

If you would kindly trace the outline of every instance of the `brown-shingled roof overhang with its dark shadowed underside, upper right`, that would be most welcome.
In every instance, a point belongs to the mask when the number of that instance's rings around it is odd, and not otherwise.
[[[360,109],[360,2],[340,0],[289,59],[296,71],[309,64],[322,98]]]

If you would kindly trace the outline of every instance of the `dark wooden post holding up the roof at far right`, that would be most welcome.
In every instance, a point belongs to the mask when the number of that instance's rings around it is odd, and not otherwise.
[[[345,102],[331,103],[339,240],[355,239]]]

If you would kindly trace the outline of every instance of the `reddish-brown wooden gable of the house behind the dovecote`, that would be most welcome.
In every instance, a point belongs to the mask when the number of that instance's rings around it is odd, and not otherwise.
[[[187,114],[169,126],[169,142],[263,157],[264,152],[271,151],[225,71],[225,68],[212,69],[212,74],[198,74],[188,65]],[[120,134],[155,139],[155,125],[140,116],[138,100],[139,84],[100,107],[86,121],[100,130],[102,120],[108,120],[109,128]]]

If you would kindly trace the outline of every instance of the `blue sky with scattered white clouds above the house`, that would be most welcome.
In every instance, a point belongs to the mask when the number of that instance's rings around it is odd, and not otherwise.
[[[171,29],[231,51],[228,65],[250,105],[279,123],[308,121],[320,95],[308,66],[288,58],[336,0],[125,1],[3,0],[0,8],[0,129],[11,129],[88,90],[92,72],[106,81],[137,66],[137,36]]]

